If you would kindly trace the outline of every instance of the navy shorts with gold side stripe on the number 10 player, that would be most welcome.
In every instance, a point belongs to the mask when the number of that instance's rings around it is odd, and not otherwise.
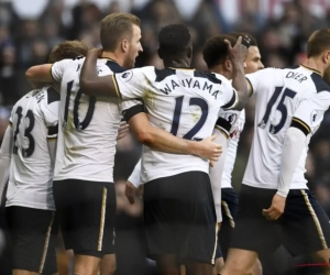
[[[53,194],[66,250],[97,257],[114,253],[117,204],[112,183],[56,180]]]

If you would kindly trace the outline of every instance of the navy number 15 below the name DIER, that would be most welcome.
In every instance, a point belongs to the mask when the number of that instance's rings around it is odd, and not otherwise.
[[[283,94],[282,94],[283,92]],[[279,122],[274,125],[274,124],[271,124],[270,127],[270,132],[272,134],[277,134],[282,128],[284,127],[285,122],[286,122],[286,119],[287,119],[287,108],[284,103],[284,100],[286,97],[288,98],[295,98],[295,96],[297,95],[297,92],[288,89],[288,88],[285,88],[285,87],[276,87],[275,88],[275,91],[271,98],[271,100],[268,101],[267,103],[267,108],[266,108],[266,112],[262,119],[262,121],[258,123],[258,127],[262,128],[262,129],[265,129],[266,125],[267,125],[267,122],[270,120],[270,116],[271,116],[271,112],[273,110],[273,107],[275,105],[275,102],[277,101],[278,97],[282,95],[282,98],[276,107],[276,110],[279,111],[282,113],[282,117],[280,117],[280,120]]]

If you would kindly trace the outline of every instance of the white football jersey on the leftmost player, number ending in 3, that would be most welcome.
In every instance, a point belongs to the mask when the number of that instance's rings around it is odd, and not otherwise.
[[[56,139],[59,94],[53,87],[30,91],[13,107],[13,148],[6,206],[55,210],[47,139]]]

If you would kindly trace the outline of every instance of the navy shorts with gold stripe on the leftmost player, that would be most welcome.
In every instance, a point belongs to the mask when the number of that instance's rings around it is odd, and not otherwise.
[[[58,233],[55,211],[11,206],[4,215],[13,253],[12,268],[55,274]]]

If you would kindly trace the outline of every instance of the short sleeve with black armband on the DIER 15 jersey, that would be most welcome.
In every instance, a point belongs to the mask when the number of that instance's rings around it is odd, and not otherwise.
[[[329,106],[329,91],[312,94],[304,98],[294,113],[292,127],[300,129],[306,135],[314,134],[320,127]]]

